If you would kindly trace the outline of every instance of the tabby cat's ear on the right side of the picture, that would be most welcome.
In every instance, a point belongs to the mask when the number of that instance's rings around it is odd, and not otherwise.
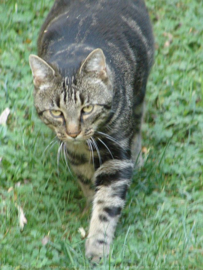
[[[82,63],[79,73],[94,72],[100,76],[106,76],[106,60],[104,53],[101,49],[95,49],[92,51],[85,61]]]

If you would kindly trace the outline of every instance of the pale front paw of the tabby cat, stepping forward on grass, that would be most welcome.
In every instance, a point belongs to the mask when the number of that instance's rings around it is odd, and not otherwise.
[[[109,247],[98,240],[97,237],[91,237],[85,243],[85,255],[94,262],[100,262],[104,254],[109,254]]]

